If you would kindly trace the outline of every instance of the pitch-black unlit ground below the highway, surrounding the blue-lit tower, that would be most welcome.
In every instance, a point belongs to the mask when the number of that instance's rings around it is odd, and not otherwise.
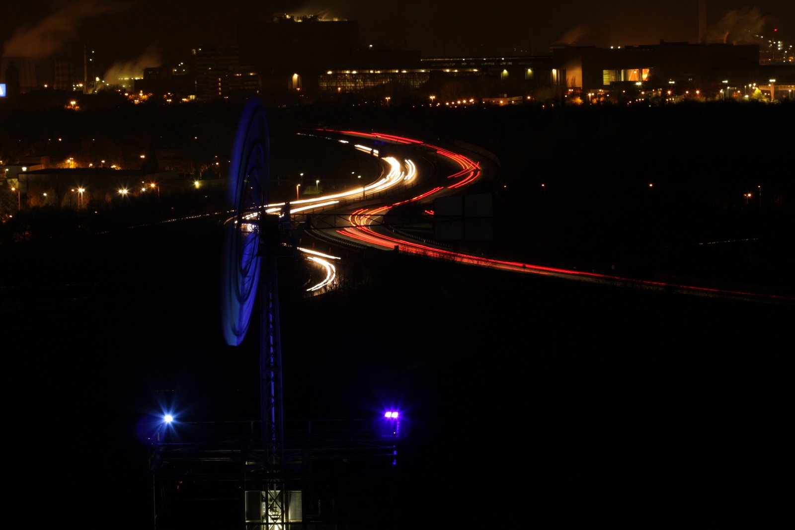
[[[210,220],[2,248],[6,487],[29,524],[151,528],[138,420],[159,402],[258,415],[256,352],[220,333],[219,234]],[[411,428],[381,528],[781,515],[792,305],[346,258],[366,280],[311,299],[304,265],[280,262],[285,416],[400,405]]]

